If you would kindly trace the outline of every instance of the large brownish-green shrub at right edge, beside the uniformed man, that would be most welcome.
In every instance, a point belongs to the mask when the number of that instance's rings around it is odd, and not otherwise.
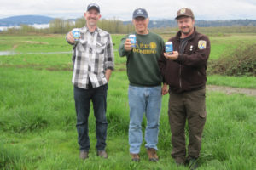
[[[256,76],[256,44],[244,44],[217,60],[209,60],[208,74]]]

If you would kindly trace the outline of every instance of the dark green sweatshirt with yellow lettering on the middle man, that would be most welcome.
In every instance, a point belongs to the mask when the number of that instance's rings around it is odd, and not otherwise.
[[[164,40],[149,32],[146,35],[136,34],[137,47],[131,51],[125,51],[125,40],[122,38],[119,46],[119,55],[127,57],[127,75],[130,85],[139,87],[158,86],[162,82],[158,59],[165,48]]]

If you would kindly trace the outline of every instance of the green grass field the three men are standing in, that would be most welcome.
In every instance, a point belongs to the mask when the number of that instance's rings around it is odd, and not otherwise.
[[[96,156],[95,119],[90,114],[90,158],[79,159],[75,128],[71,54],[17,54],[0,56],[0,168],[1,169],[188,169],[171,158],[168,96],[160,117],[160,161],[149,162],[142,145],[142,160],[129,155],[128,80],[125,58],[117,52],[122,35],[113,35],[116,70],[108,88],[109,158]],[[210,37],[210,59],[218,59],[241,42],[256,42],[256,35]],[[0,51],[68,52],[65,35],[0,37]],[[256,88],[255,77],[208,77],[207,84]],[[256,99],[243,94],[207,92],[205,126],[199,169],[256,168]],[[143,129],[146,126],[143,120]],[[188,131],[188,129],[186,129]]]

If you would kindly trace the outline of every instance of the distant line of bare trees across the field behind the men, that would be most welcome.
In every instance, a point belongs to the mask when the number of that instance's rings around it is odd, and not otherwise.
[[[196,27],[198,31],[205,33],[207,35],[211,34],[225,34],[225,33],[256,33],[256,23],[255,26],[252,24],[252,20],[241,20],[245,22],[246,26],[239,26],[239,20],[230,20],[230,22],[234,24],[234,26],[212,26],[209,27],[203,24],[201,20],[201,24],[199,21],[195,21]],[[254,20],[253,20],[254,21]],[[207,21],[209,23],[211,21]],[[217,21],[212,21],[217,22]],[[220,22],[220,21],[219,21]],[[251,23],[251,24],[249,24]],[[162,25],[161,25],[162,24]],[[153,26],[154,25],[154,26]],[[168,26],[169,25],[169,26]],[[253,25],[253,26],[252,26]],[[85,26],[84,17],[81,17],[77,20],[62,20],[55,19],[51,20],[48,28],[35,28],[33,26],[21,25],[20,27],[9,28],[6,31],[2,31],[3,33],[8,34],[27,34],[27,33],[46,33],[46,34],[65,34],[68,31],[71,31],[73,28],[81,28]],[[99,20],[98,26],[105,31],[108,31],[111,34],[127,34],[134,31],[134,26],[132,26],[130,22],[123,22],[121,20],[112,19]],[[159,27],[161,26],[161,27]],[[178,31],[177,21],[176,20],[162,20],[162,21],[154,21],[151,20],[148,24],[148,28],[150,31],[154,31],[159,34],[174,34]]]

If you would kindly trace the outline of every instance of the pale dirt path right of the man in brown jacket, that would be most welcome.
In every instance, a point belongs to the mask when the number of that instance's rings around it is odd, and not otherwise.
[[[227,86],[207,85],[207,90],[223,92],[225,94],[246,94],[256,98],[256,89],[252,88],[231,88]]]

